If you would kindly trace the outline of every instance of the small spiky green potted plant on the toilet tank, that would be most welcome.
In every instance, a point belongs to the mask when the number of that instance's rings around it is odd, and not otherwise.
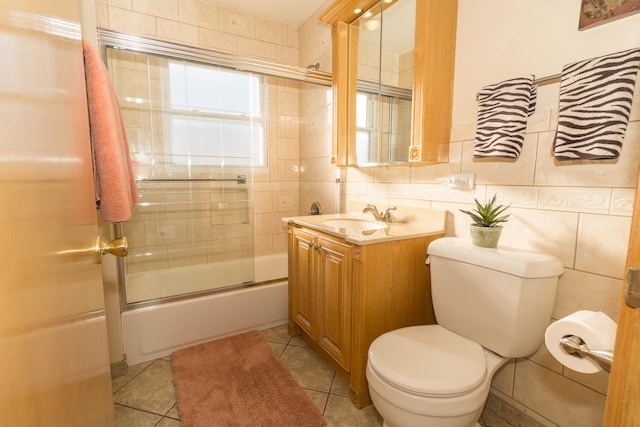
[[[505,214],[509,206],[497,203],[496,198],[497,195],[494,194],[485,204],[480,203],[478,199],[474,199],[476,202],[474,210],[460,209],[460,212],[469,215],[473,220],[471,224],[471,240],[475,246],[483,248],[498,247],[498,240],[500,239],[500,233],[502,233],[502,223],[506,222],[511,214]]]

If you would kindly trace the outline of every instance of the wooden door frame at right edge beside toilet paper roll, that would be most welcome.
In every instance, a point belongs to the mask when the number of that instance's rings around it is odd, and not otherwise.
[[[640,267],[640,185],[636,188],[626,265],[627,271]],[[640,310],[625,303],[624,286],[604,425],[640,426]]]

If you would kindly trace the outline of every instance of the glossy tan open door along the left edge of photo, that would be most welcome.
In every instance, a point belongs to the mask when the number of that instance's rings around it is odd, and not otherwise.
[[[112,426],[79,0],[0,1],[0,423]]]

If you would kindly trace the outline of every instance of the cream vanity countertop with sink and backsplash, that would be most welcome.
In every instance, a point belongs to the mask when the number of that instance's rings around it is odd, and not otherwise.
[[[433,236],[446,232],[446,211],[436,209],[419,211],[419,214],[407,215],[389,224],[376,221],[371,215],[358,213],[295,216],[282,218],[282,220],[341,237],[356,245]],[[349,222],[352,222],[353,226],[350,226]]]

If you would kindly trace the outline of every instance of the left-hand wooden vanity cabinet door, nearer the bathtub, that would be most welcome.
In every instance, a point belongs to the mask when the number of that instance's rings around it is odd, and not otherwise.
[[[316,336],[316,286],[314,262],[316,236],[300,229],[292,230],[291,263],[293,277],[289,277],[291,318],[310,336]]]

